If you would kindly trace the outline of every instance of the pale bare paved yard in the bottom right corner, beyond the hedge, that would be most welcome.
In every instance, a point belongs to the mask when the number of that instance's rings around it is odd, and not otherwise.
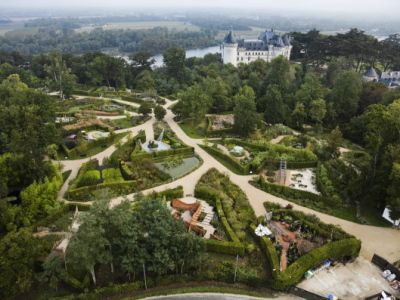
[[[381,276],[381,270],[359,257],[353,263],[336,265],[304,280],[298,287],[321,296],[334,294],[340,299],[364,299],[382,290],[396,295],[396,291]],[[397,297],[400,293],[397,292]]]

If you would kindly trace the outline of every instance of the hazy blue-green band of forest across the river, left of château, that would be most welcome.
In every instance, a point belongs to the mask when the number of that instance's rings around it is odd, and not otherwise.
[[[74,26],[72,26],[74,27]],[[0,51],[18,51],[24,55],[47,53],[53,50],[69,54],[96,51],[131,53],[149,51],[151,54],[164,52],[172,46],[185,49],[215,45],[215,32],[176,31],[157,27],[145,30],[103,30],[76,32],[69,27],[39,27],[33,34],[6,34],[0,37]]]

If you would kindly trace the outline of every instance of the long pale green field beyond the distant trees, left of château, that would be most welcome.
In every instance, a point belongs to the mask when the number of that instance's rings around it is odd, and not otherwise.
[[[108,29],[131,29],[131,30],[140,30],[140,29],[151,29],[155,27],[167,27],[168,29],[175,29],[178,31],[199,31],[200,28],[198,26],[192,25],[186,22],[178,22],[178,21],[146,21],[146,22],[121,22],[121,23],[109,23],[106,25],[98,26],[98,25],[89,25],[84,26],[79,29],[76,29],[77,32],[88,32],[92,31],[95,28],[103,28],[104,30]]]

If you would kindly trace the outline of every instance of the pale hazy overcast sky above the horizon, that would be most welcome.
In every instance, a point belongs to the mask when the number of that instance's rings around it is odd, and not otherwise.
[[[265,10],[266,12],[315,14],[346,14],[371,17],[394,17],[400,15],[400,0],[0,0],[1,7],[32,7],[52,9],[80,7],[131,9],[147,7],[153,9],[199,9],[232,8],[243,10]],[[128,13],[128,12],[127,12]]]

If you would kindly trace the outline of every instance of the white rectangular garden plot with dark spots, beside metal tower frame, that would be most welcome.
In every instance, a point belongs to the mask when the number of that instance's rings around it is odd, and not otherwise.
[[[314,169],[287,170],[285,185],[319,195]]]

